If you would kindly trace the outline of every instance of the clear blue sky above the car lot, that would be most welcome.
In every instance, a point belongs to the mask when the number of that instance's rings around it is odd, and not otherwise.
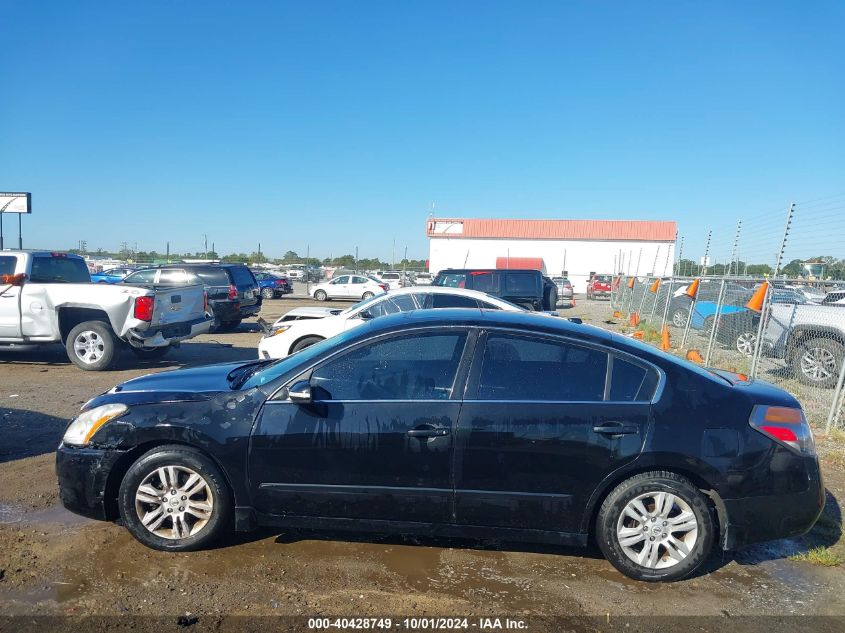
[[[6,0],[0,21],[25,246],[425,257],[434,203],[674,219],[717,257],[743,217],[762,257],[818,198],[824,248],[845,238],[841,2]]]

